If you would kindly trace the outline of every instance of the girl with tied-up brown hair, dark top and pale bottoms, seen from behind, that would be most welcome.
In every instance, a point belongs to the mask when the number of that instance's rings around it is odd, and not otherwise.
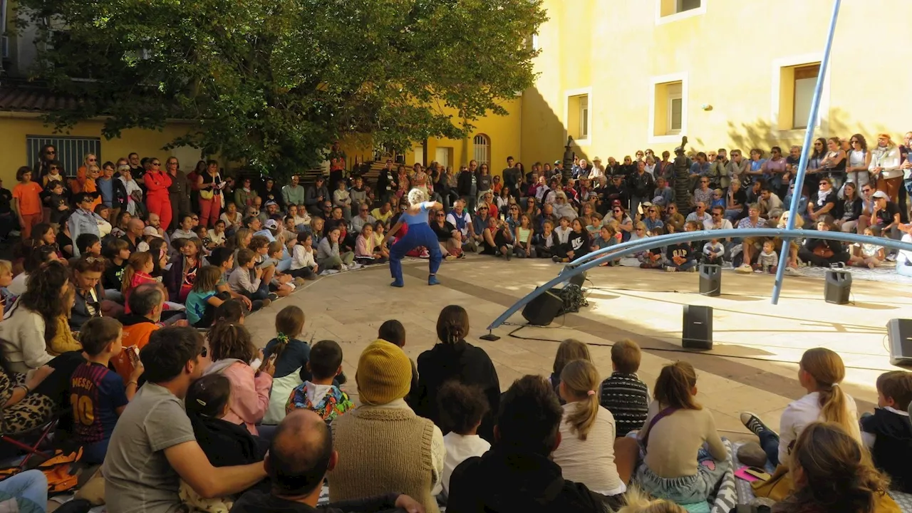
[[[273,391],[269,398],[269,410],[263,424],[279,424],[285,418],[285,403],[288,394],[303,382],[311,379],[307,371],[310,360],[310,346],[299,340],[304,333],[304,310],[294,305],[279,310],[275,315],[275,339],[266,343],[264,359],[275,354]]]

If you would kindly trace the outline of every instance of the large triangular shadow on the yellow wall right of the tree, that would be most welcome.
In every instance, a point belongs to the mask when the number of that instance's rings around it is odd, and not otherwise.
[[[564,159],[567,129],[538,89],[523,91],[523,122],[520,147],[522,162],[528,171],[534,162],[551,162]],[[586,152],[574,142],[572,150],[581,159],[589,160]]]

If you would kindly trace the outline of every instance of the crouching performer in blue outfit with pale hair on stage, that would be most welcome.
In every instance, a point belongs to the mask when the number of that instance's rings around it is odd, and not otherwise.
[[[428,248],[428,253],[430,253],[428,285],[440,284],[440,281],[437,280],[437,269],[440,268],[443,254],[440,253],[440,242],[428,224],[428,211],[442,209],[442,204],[429,202],[428,194],[424,191],[420,189],[409,191],[409,208],[399,216],[399,222],[387,232],[387,242],[389,242],[389,239],[399,232],[399,228],[403,224],[409,225],[408,233],[389,248],[389,272],[393,275],[393,282],[390,285],[393,287],[405,285],[402,281],[402,257],[418,246]]]

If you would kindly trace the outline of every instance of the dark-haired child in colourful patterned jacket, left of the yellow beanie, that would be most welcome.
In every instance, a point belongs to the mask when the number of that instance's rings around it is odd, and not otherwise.
[[[285,414],[305,409],[331,423],[337,416],[355,407],[348,394],[333,384],[336,376],[342,373],[342,348],[334,340],[320,340],[314,344],[307,370],[312,378],[291,392],[285,404]]]

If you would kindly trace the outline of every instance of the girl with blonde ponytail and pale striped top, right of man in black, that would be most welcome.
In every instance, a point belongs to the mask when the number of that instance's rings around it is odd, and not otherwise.
[[[558,390],[566,403],[554,463],[561,466],[565,479],[606,497],[618,496],[617,504],[611,504],[617,509],[624,503],[619,496],[627,491],[637,460],[637,441],[623,437],[616,442],[615,417],[598,403],[600,381],[592,362],[568,362],[560,380]]]

